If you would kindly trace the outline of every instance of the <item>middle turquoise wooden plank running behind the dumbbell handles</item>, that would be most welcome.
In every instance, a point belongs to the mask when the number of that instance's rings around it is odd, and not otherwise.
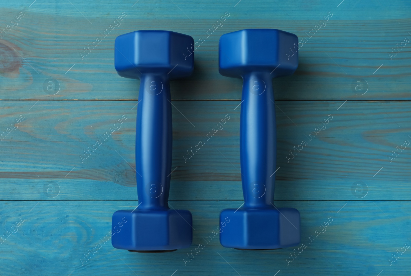
[[[1,199],[136,199],[136,101],[1,103],[1,131],[24,116],[0,142]],[[242,199],[239,104],[173,101],[172,168],[178,168],[171,175],[171,199]],[[280,168],[273,176],[275,199],[409,200],[410,155],[404,141],[411,142],[410,102],[276,104],[277,167],[272,172]],[[103,141],[123,114],[127,119],[121,128]],[[206,141],[225,117],[224,128]],[[328,123],[320,125],[324,120]],[[84,151],[97,139],[103,145],[82,163],[80,156],[85,158]],[[186,160],[199,140],[205,145]],[[302,140],[307,145],[300,146]],[[292,159],[291,150],[296,154]],[[390,162],[389,156],[397,157]],[[58,197],[47,193],[53,185],[60,187]]]

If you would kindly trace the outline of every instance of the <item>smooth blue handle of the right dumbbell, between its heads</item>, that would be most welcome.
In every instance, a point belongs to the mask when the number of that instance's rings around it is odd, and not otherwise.
[[[243,76],[240,161],[244,206],[272,208],[277,134],[274,93],[269,72]]]

